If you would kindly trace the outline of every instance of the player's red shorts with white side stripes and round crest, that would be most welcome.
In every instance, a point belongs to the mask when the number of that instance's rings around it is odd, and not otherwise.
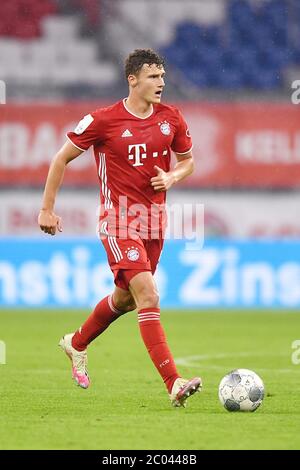
[[[128,290],[129,282],[139,272],[155,273],[164,240],[133,240],[112,236],[101,237],[115,284]]]

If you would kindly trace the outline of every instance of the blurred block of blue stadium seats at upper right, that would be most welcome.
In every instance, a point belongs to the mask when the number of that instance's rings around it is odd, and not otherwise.
[[[291,4],[300,37],[300,1]],[[299,42],[288,34],[287,3],[230,0],[227,8],[223,25],[177,25],[175,40],[164,49],[168,61],[199,87],[280,87],[284,67],[300,63]]]

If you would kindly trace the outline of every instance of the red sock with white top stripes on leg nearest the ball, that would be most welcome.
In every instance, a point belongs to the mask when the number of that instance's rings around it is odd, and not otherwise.
[[[159,308],[143,308],[138,312],[140,332],[145,346],[168,392],[171,393],[172,386],[180,375],[176,370],[159,317]]]

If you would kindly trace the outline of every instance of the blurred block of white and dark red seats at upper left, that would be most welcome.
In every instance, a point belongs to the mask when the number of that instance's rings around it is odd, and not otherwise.
[[[25,3],[28,11],[34,10],[32,21],[23,21]],[[80,36],[77,16],[54,14],[50,0],[4,0],[4,10],[10,18],[15,15],[14,31],[7,30],[3,16],[0,20],[0,32],[5,33],[0,37],[1,78],[12,86],[65,87],[78,82],[100,87],[116,82],[116,66],[101,60],[95,39]]]

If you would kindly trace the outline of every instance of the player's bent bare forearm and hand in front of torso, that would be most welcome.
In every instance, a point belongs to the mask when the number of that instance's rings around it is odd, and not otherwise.
[[[191,175],[194,171],[194,160],[192,152],[188,152],[184,155],[176,154],[177,163],[173,170],[164,171],[158,166],[155,166],[157,176],[151,178],[151,186],[155,191],[167,191],[178,181],[183,180],[187,176]]]

